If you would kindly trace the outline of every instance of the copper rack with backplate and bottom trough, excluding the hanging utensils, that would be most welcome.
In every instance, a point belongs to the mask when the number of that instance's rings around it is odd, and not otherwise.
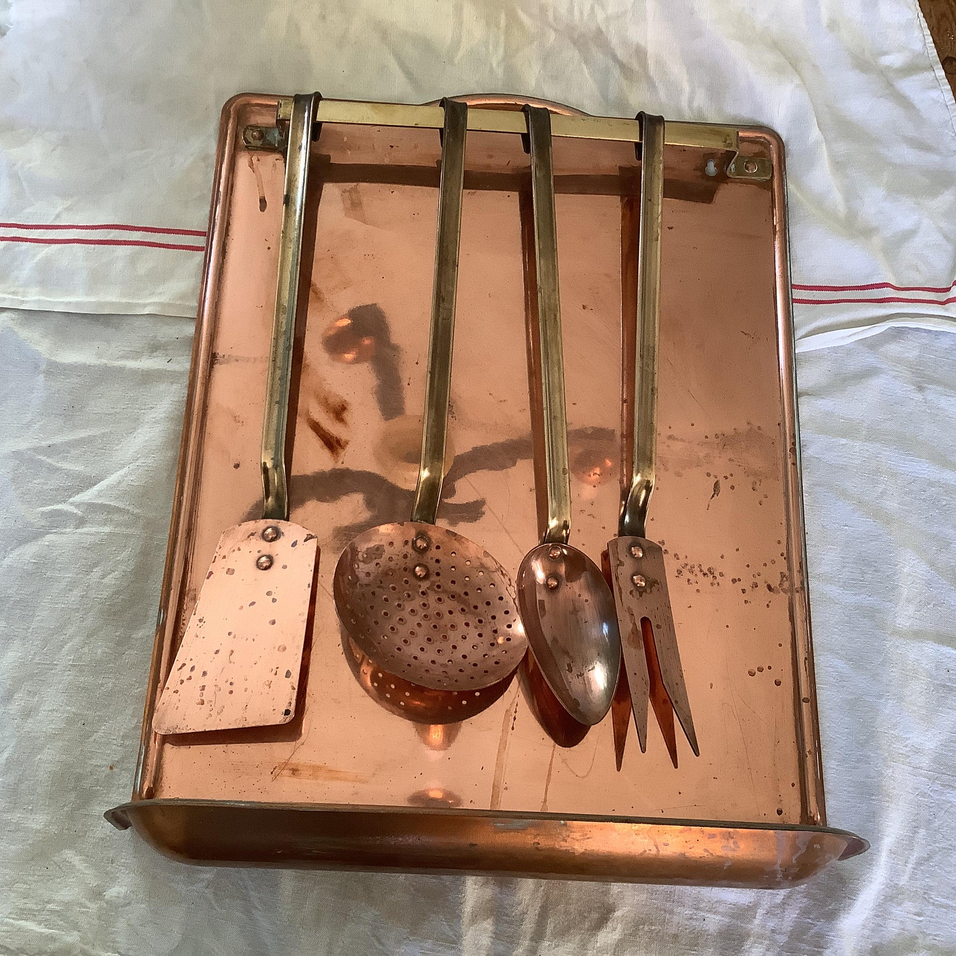
[[[513,574],[541,504],[518,213],[528,158],[521,114],[502,98],[471,101],[489,108],[469,111],[439,522]],[[666,127],[648,533],[667,549],[700,757],[682,739],[675,770],[652,721],[647,752],[631,728],[617,771],[610,715],[559,748],[517,681],[461,723],[418,725],[350,660],[331,593],[337,555],[356,532],[407,519],[417,475],[441,110],[331,100],[313,150],[290,424],[291,520],[321,546],[304,708],[282,728],[152,733],[216,541],[261,502],[286,103],[244,95],[223,112],[140,760],[132,799],[107,818],[171,857],[230,865],[777,887],[865,850],[826,826],[784,151],[765,129]],[[632,279],[621,278],[621,222],[633,215],[639,134],[633,120],[554,111],[575,541],[597,559],[617,525],[621,290]]]

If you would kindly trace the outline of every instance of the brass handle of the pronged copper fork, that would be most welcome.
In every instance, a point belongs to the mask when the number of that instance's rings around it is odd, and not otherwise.
[[[657,458],[658,328],[661,317],[663,117],[639,113],[641,218],[638,226],[638,329],[634,374],[634,467],[619,534],[646,537]]]

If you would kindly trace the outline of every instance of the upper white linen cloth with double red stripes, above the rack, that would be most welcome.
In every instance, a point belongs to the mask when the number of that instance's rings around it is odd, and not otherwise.
[[[771,126],[804,347],[956,318],[956,106],[917,0],[12,0],[9,21],[0,306],[194,315],[222,104],[317,89]]]

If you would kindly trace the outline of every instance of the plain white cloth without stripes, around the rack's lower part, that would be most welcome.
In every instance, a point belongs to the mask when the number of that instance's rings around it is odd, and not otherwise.
[[[0,953],[956,951],[956,351],[800,357],[830,822],[872,849],[784,892],[190,867],[125,801],[191,323],[0,314]]]

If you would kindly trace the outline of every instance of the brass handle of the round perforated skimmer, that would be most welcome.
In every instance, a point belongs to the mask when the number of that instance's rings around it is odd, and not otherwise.
[[[458,250],[462,235],[462,189],[465,185],[467,104],[443,99],[442,177],[438,198],[438,237],[435,243],[435,279],[431,298],[428,341],[428,377],[424,389],[422,463],[412,521],[433,525],[445,479],[445,439],[448,433],[448,396],[451,392],[451,354],[455,337],[455,296],[458,291]]]

